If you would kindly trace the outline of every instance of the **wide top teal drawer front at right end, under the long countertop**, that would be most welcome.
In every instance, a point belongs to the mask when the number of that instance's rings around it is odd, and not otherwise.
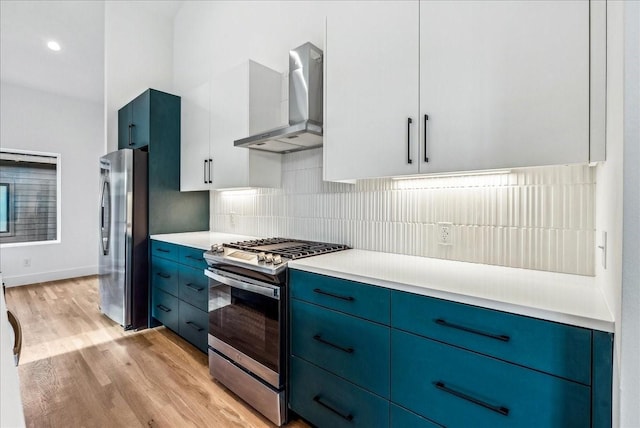
[[[591,384],[591,330],[394,291],[393,327]]]

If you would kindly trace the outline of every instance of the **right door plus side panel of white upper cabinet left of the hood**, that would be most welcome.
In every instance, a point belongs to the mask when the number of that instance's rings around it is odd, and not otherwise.
[[[212,189],[280,186],[280,154],[233,142],[281,124],[281,83],[280,73],[253,61],[212,77]]]

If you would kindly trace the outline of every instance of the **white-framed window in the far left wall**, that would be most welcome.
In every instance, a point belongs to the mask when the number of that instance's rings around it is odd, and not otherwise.
[[[0,150],[0,244],[58,242],[60,155]]]

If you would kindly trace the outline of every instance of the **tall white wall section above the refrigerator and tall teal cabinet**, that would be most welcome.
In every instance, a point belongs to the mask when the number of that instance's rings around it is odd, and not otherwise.
[[[118,149],[122,106],[149,88],[172,93],[172,47],[173,18],[153,2],[106,2],[105,153]]]

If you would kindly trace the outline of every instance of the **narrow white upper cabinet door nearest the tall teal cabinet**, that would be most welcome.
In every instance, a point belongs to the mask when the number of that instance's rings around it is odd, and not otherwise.
[[[182,94],[180,190],[209,190],[209,82]]]

